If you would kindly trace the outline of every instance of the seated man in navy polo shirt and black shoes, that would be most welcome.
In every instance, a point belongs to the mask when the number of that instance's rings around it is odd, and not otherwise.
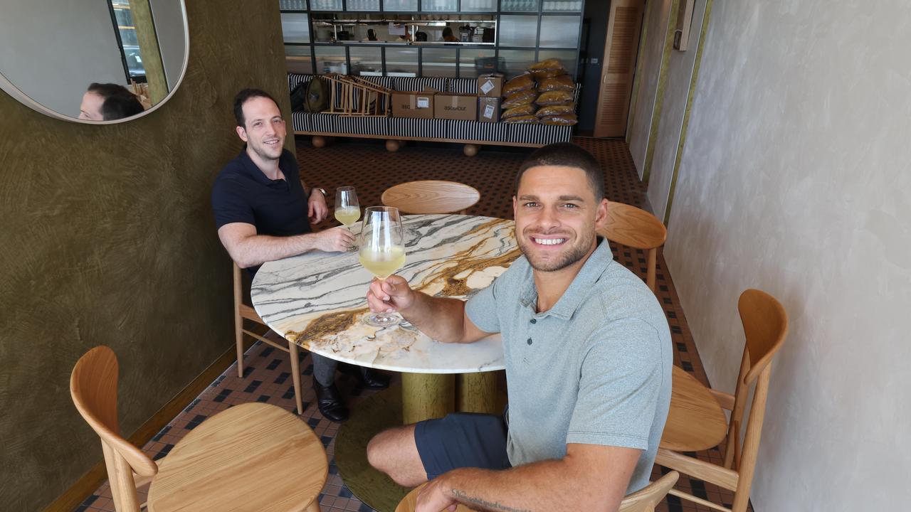
[[[212,187],[212,210],[221,244],[231,259],[251,276],[262,263],[307,251],[346,251],[351,231],[332,228],[314,233],[311,222],[326,218],[322,189],[304,190],[297,160],[284,149],[285,122],[278,104],[259,89],[243,89],[234,98],[237,135],[246,147],[221,169]],[[313,388],[323,416],[348,418],[335,387],[336,362],[312,353]],[[388,377],[367,368],[350,369],[371,389],[388,385]]]

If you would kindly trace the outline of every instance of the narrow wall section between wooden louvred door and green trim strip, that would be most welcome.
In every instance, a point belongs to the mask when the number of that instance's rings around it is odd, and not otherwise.
[[[632,122],[630,123],[630,131],[627,133],[627,142],[630,143],[632,161],[636,164],[640,178],[642,178],[645,171],[651,118],[658,93],[661,56],[664,52],[665,36],[667,36],[668,20],[670,18],[670,5],[672,4],[672,0],[650,0],[646,3],[645,16],[642,21],[645,42],[639,49],[640,65],[637,67],[637,72],[640,76],[636,78],[635,103],[630,111]]]

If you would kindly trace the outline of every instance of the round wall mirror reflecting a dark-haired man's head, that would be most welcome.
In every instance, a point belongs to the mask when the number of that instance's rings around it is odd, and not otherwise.
[[[0,0],[0,12],[0,88],[52,118],[144,116],[187,70],[184,0]]]

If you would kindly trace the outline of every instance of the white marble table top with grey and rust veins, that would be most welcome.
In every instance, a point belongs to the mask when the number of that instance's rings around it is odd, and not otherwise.
[[[471,215],[408,215],[404,267],[412,288],[466,299],[507,270],[520,252],[512,220]],[[359,233],[360,223],[352,230]],[[438,343],[410,323],[372,327],[365,298],[373,275],[357,253],[312,251],[264,263],[251,288],[253,308],[273,331],[313,353],[384,370],[464,374],[501,370],[499,334],[476,343]]]

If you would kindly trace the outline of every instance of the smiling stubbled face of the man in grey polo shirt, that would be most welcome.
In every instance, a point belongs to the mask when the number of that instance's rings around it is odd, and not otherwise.
[[[559,271],[595,249],[596,226],[607,214],[582,169],[527,169],[513,198],[518,247],[536,271]]]

